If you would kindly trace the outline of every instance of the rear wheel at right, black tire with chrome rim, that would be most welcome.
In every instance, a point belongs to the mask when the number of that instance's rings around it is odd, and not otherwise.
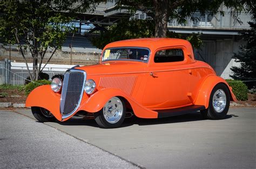
[[[206,119],[224,119],[230,108],[230,91],[223,83],[213,87],[208,109],[202,110],[201,114]]]

